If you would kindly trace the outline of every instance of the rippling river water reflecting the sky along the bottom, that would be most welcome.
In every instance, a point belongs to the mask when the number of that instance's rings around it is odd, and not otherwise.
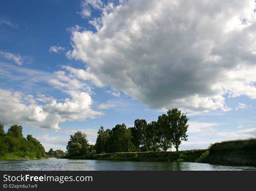
[[[187,162],[135,162],[105,160],[0,160],[0,170],[256,170],[256,167]]]

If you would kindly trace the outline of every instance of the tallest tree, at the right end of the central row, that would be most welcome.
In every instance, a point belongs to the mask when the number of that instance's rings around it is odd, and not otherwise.
[[[187,141],[188,135],[186,131],[188,130],[189,125],[187,124],[189,118],[186,117],[186,114],[181,113],[177,108],[168,110],[168,121],[171,128],[171,140],[178,151],[181,141]]]

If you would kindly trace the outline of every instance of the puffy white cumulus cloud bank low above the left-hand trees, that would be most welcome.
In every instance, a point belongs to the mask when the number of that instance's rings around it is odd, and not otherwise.
[[[95,118],[104,113],[91,109],[93,100],[86,92],[70,92],[71,99],[55,99],[46,105],[32,102],[32,95],[0,89],[0,124],[27,123],[41,128],[60,129],[59,122]],[[28,102],[29,101],[29,102]]]

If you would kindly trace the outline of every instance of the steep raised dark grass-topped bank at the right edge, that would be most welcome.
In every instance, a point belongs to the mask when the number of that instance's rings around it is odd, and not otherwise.
[[[256,166],[256,139],[230,140],[211,144],[198,162]]]

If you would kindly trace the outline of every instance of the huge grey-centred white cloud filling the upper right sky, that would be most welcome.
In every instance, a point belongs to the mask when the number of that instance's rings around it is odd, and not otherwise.
[[[150,108],[230,111],[226,94],[256,99],[255,2],[232,2],[96,3],[97,31],[73,31],[67,56]]]

